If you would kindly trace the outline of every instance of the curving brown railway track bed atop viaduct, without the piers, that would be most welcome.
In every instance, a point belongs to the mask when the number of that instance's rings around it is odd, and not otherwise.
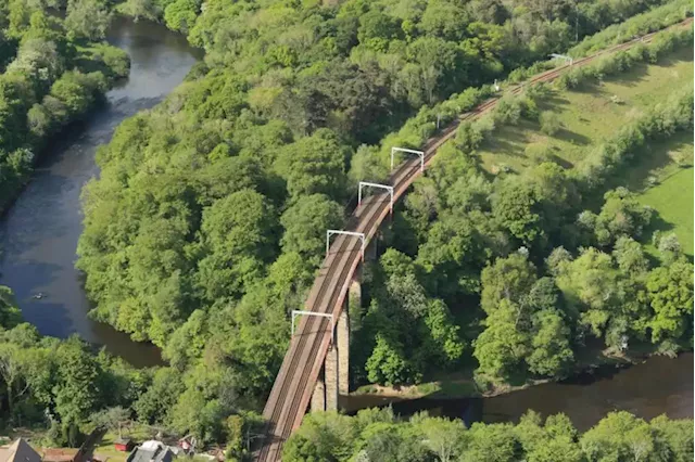
[[[672,26],[682,27],[693,23],[695,18]],[[573,64],[566,64],[555,69],[539,74],[522,85],[508,90],[510,94],[519,94],[529,85],[552,81],[571,66],[586,65],[594,60],[627,50],[636,43],[648,43],[658,34],[647,34],[641,38],[610,47],[591,56],[577,60]],[[437,150],[456,134],[458,126],[470,119],[477,119],[495,107],[501,97],[491,98],[475,110],[459,115],[445,129],[425,143],[425,166],[434,158]],[[391,175],[389,183],[394,188],[394,200],[403,196],[407,189],[420,175],[419,158],[408,159],[399,165]],[[381,222],[390,213],[390,197],[388,194],[368,196],[350,217],[345,229],[365,234],[367,240],[374,238]],[[339,235],[330,246],[330,252],[324,260],[319,273],[314,281],[305,310],[332,313],[338,319],[342,310],[348,290],[362,260],[361,243],[357,239]],[[266,438],[256,460],[260,462],[279,461],[282,454],[282,444],[290,434],[302,423],[306,413],[314,386],[321,370],[331,339],[331,321],[327,318],[302,317],[296,333],[290,343],[282,365],[266,401],[263,416],[267,421]]]

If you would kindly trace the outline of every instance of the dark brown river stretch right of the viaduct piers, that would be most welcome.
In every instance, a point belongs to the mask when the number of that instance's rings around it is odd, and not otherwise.
[[[388,406],[375,397],[351,397],[350,407]],[[654,357],[627,369],[603,369],[565,383],[548,383],[483,399],[420,398],[391,405],[394,412],[412,415],[427,410],[431,415],[472,422],[518,422],[529,409],[543,416],[567,414],[585,431],[608,412],[628,411],[643,419],[667,414],[672,419],[695,418],[695,354],[677,359]]]

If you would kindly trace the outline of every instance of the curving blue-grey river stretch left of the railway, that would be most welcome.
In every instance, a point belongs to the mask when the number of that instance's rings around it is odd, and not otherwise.
[[[114,21],[108,40],[130,55],[130,76],[106,94],[105,106],[59,137],[1,220],[0,284],[14,291],[24,319],[41,334],[76,333],[142,367],[161,362],[157,348],[86,316],[90,305],[74,267],[83,230],[79,194],[99,175],[97,147],[109,142],[122,120],[162,101],[202,53],[164,26],[127,18]],[[39,292],[45,298],[33,298]]]

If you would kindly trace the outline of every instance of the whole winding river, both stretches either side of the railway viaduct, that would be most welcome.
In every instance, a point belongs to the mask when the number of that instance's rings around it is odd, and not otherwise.
[[[109,41],[128,52],[130,77],[108,94],[109,104],[75,126],[46,153],[35,178],[0,222],[0,283],[12,287],[24,318],[46,335],[73,333],[106,348],[135,365],[160,361],[151,345],[91,321],[89,303],[74,269],[81,231],[81,187],[98,175],[94,154],[116,126],[138,111],[152,107],[182,81],[201,57],[186,39],[151,23],[116,20]],[[37,294],[43,294],[40,299]],[[361,401],[357,398],[357,401]],[[358,407],[378,405],[359,402]],[[396,411],[432,413],[467,421],[518,420],[527,409],[544,415],[565,412],[578,428],[595,424],[610,410],[644,418],[667,413],[695,416],[695,355],[647,362],[598,377],[546,384],[495,398],[473,400],[419,399],[395,405]]]

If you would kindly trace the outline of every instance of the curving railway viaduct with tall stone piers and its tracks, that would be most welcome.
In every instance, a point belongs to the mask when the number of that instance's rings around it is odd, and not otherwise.
[[[675,27],[693,21],[688,18]],[[518,94],[526,86],[552,81],[570,66],[586,65],[598,56],[629,49],[637,42],[647,43],[656,34],[648,34],[540,74],[523,86],[510,89],[509,93]],[[337,409],[339,395],[348,394],[350,322],[345,307],[351,299],[352,303],[361,303],[359,266],[365,246],[391,213],[393,202],[402,197],[425,171],[437,150],[455,136],[460,123],[488,113],[498,100],[500,97],[489,99],[473,111],[459,115],[444,130],[429,139],[421,147],[422,151],[404,150],[407,154],[417,155],[406,157],[395,169],[392,166],[392,174],[384,185],[387,188],[382,188],[383,192],[361,201],[346,223],[345,229],[349,231],[329,232],[328,236],[333,236],[333,242],[327,244],[326,258],[304,310],[295,311],[292,316],[293,335],[290,347],[263,411],[267,427],[263,446],[256,453],[257,461],[281,459],[283,442],[300,426],[309,403],[313,410]]]

